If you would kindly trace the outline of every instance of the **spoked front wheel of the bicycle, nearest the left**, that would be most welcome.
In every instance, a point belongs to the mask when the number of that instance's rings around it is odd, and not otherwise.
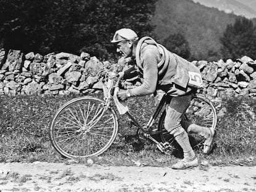
[[[70,159],[105,152],[116,138],[118,122],[116,112],[105,110],[104,103],[84,96],[64,104],[54,115],[49,130],[54,149]]]

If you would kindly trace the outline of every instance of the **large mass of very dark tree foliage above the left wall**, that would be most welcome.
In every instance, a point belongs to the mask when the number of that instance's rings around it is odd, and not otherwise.
[[[0,46],[46,54],[113,52],[114,31],[129,27],[138,35],[153,30],[156,0],[0,0]]]

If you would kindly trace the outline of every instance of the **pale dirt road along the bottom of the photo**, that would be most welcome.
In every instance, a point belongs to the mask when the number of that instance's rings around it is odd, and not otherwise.
[[[1,163],[0,191],[256,191],[256,167]]]

